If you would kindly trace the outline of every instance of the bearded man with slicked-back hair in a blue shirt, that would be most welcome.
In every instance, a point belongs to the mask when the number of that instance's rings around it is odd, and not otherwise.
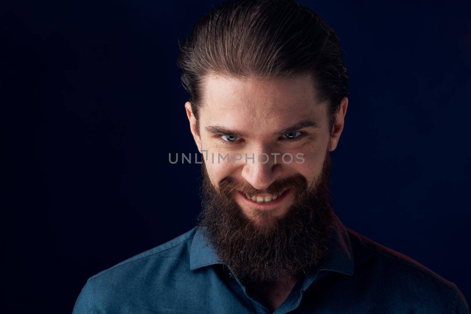
[[[348,106],[333,30],[287,0],[213,8],[181,46],[198,226],[89,279],[74,313],[469,313],[460,290],[346,228],[329,200]]]

